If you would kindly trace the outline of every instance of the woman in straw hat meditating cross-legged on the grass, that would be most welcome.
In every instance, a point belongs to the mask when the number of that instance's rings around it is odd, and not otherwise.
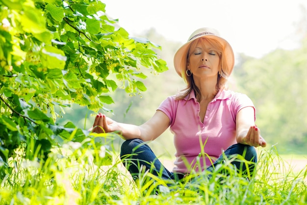
[[[244,94],[226,89],[234,66],[230,44],[213,28],[200,28],[176,52],[174,65],[187,86],[163,101],[153,117],[141,126],[122,124],[97,115],[93,131],[119,131],[126,139],[121,158],[134,177],[151,172],[162,179],[182,179],[185,175],[213,170],[224,157],[243,155],[256,162],[255,147],[266,146],[255,125],[253,102]],[[167,128],[174,133],[175,168],[167,170],[144,143],[160,136]],[[233,160],[241,171],[253,171]]]

